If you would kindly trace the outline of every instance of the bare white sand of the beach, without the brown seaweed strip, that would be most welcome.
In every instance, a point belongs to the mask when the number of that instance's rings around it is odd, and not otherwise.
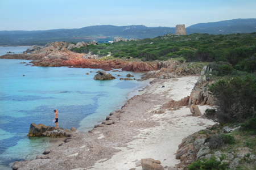
[[[196,76],[187,76],[178,79],[164,80],[154,83],[143,93],[159,94],[180,100],[190,95],[196,83]],[[164,86],[164,88],[161,88]],[[157,108],[159,106],[155,106]],[[199,106],[201,113],[204,113],[208,106]],[[148,111],[150,112],[150,111]],[[163,114],[154,114],[151,119],[160,122],[155,128],[142,129],[136,139],[129,142],[126,147],[115,147],[117,152],[111,159],[99,160],[90,169],[142,169],[136,167],[136,162],[143,158],[160,160],[163,167],[174,167],[180,163],[175,159],[175,154],[182,139],[213,125],[211,120],[200,117],[193,117],[189,108],[183,107],[177,111],[166,111]]]

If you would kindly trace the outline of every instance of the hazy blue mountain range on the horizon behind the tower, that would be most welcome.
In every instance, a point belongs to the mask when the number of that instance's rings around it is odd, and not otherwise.
[[[182,24],[182,23],[177,23]],[[187,34],[250,33],[256,32],[256,19],[233,19],[221,22],[199,23],[186,28]],[[43,45],[54,41],[111,41],[114,37],[147,39],[175,33],[175,27],[146,27],[145,25],[94,25],[76,29],[51,29],[46,31],[0,31],[0,45]]]

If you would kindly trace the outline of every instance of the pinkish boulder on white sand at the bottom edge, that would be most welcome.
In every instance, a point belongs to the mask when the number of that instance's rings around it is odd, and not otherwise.
[[[141,166],[143,170],[164,170],[160,160],[154,160],[152,158],[141,159]]]

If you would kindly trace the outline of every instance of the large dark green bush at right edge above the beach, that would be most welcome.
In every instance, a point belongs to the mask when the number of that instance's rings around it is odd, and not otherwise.
[[[243,122],[254,116],[256,106],[256,76],[224,78],[209,87],[215,98],[215,121]]]

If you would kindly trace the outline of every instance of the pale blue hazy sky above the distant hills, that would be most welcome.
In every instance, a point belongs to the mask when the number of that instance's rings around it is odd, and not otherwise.
[[[0,31],[91,25],[185,27],[256,18],[256,0],[0,0]]]

